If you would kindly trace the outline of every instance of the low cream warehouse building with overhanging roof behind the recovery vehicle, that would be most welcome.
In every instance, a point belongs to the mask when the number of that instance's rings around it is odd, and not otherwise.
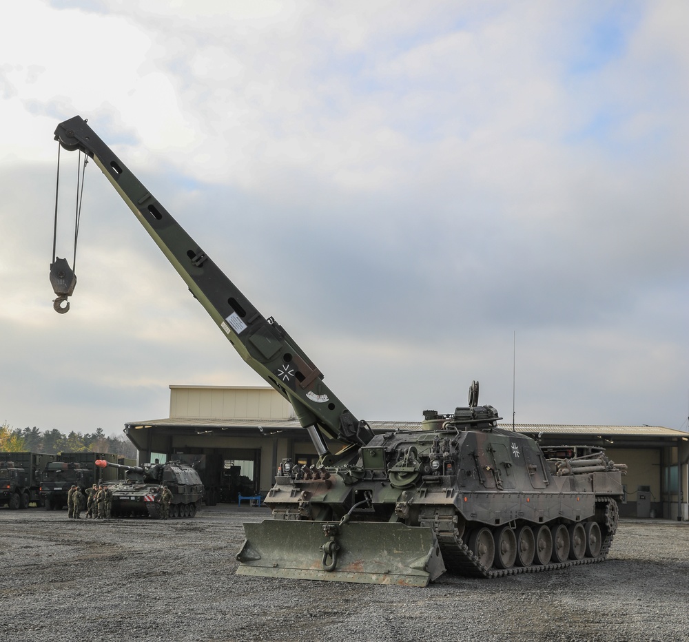
[[[291,405],[269,386],[176,386],[169,417],[125,424],[139,463],[214,456],[224,470],[240,471],[252,495],[273,485],[280,460],[311,465],[318,456]],[[418,430],[420,422],[369,422],[373,431]],[[501,424],[543,445],[593,445],[626,464],[623,517],[689,519],[689,433],[661,426]],[[229,475],[228,475],[229,477]]]

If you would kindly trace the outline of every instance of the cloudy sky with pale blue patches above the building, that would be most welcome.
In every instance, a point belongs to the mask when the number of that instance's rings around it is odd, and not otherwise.
[[[689,415],[689,4],[23,0],[0,23],[0,422],[118,434],[263,382],[79,114],[365,420]],[[79,154],[61,153],[74,258]]]

